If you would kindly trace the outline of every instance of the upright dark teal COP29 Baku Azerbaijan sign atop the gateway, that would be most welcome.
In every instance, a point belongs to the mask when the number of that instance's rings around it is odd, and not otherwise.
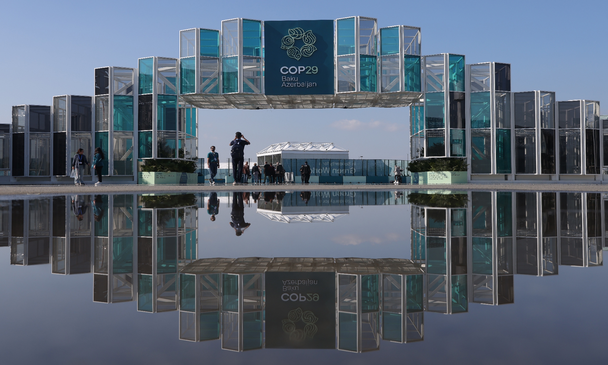
[[[266,95],[334,94],[334,21],[264,21]]]

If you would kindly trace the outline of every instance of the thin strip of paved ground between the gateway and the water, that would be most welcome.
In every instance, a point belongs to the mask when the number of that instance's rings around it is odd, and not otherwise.
[[[219,192],[264,190],[526,190],[562,192],[608,192],[608,184],[454,184],[454,185],[399,185],[393,184],[302,184],[290,185],[3,185],[4,195],[53,195],[53,194],[108,194],[108,193],[171,193],[171,192]]]

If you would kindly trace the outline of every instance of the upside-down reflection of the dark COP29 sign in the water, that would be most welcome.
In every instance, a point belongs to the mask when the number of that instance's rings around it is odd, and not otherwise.
[[[266,348],[336,348],[336,273],[266,273]]]

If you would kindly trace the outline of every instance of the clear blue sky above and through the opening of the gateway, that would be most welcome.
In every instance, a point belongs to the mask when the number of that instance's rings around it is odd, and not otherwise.
[[[387,4],[387,5],[383,5]],[[0,15],[4,69],[0,122],[10,106],[50,105],[52,96],[91,95],[93,68],[136,67],[137,58],[178,57],[179,30],[219,29],[221,20],[335,19],[361,15],[378,26],[422,28],[423,54],[453,52],[466,63],[511,63],[513,91],[556,91],[558,100],[601,102],[608,114],[607,2],[601,1],[19,1]],[[371,5],[371,6],[370,6]],[[407,108],[201,110],[199,155],[228,157],[241,131],[254,157],[277,142],[334,142],[351,158],[405,159]]]

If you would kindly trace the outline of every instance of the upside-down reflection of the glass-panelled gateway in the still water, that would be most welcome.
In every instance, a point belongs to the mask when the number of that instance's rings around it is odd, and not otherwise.
[[[234,351],[366,352],[378,350],[380,339],[423,341],[424,311],[513,304],[516,274],[603,265],[605,198],[494,191],[60,195],[1,201],[0,246],[10,246],[12,265],[92,273],[95,302],[179,311],[180,339],[218,339]],[[350,206],[411,204],[410,259],[198,259],[198,208],[214,221],[227,203],[230,226],[242,235],[250,200],[259,214],[286,223],[333,222]]]

